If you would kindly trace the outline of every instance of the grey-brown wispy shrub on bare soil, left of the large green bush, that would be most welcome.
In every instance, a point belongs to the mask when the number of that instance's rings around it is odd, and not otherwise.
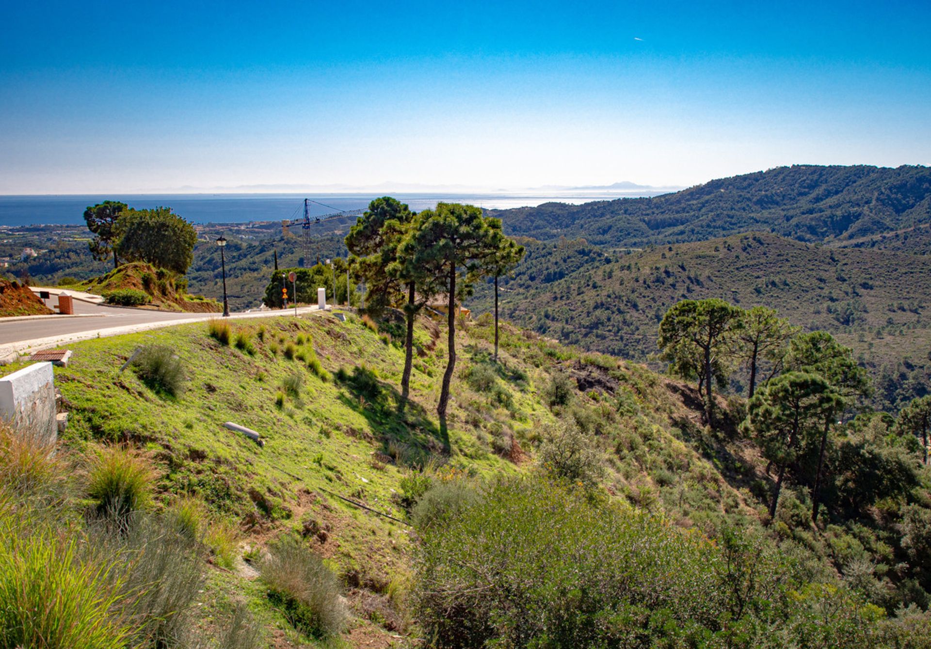
[[[300,540],[285,536],[274,543],[259,573],[269,598],[295,629],[316,638],[343,630],[345,611],[336,575]]]

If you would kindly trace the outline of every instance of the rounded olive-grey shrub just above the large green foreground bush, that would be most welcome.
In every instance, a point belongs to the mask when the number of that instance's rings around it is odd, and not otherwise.
[[[569,480],[592,488],[604,473],[601,454],[594,440],[579,430],[572,421],[560,421],[546,426],[540,446],[540,464],[561,480]]]

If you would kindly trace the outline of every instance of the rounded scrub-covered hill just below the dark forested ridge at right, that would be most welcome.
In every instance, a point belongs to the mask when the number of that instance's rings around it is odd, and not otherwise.
[[[503,317],[625,358],[655,351],[656,327],[672,304],[723,297],[746,308],[772,306],[796,325],[831,331],[878,367],[924,358],[931,263],[754,233],[621,255],[548,284],[519,272],[506,289]],[[488,291],[479,297],[479,310],[488,308]]]

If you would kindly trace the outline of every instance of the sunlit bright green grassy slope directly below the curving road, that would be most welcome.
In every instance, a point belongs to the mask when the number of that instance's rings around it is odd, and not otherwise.
[[[384,624],[382,616],[367,612],[371,602],[385,599],[390,584],[404,582],[408,529],[323,490],[402,518],[393,496],[402,491],[401,479],[411,470],[407,465],[446,462],[441,474],[485,476],[527,470],[542,427],[554,421],[540,393],[557,370],[570,372],[581,388],[573,412],[600,431],[611,493],[663,509],[681,525],[708,530],[724,518],[753,521],[760,515],[762,505],[749,487],[762,480],[762,472],[749,447],[702,433],[693,391],[639,365],[582,356],[506,325],[500,366],[506,378],[499,383],[512,395],[512,409],[496,406],[457,372],[449,439],[443,439],[433,410],[445,336],[432,324],[417,331],[421,351],[414,364],[414,404],[404,417],[394,409],[402,351],[385,345],[358,320],[276,318],[266,322],[264,342],[255,339],[259,325],[254,322],[234,325],[253,333],[255,356],[220,345],[202,324],[74,345],[72,362],[56,370],[71,412],[65,439],[75,449],[89,439],[142,444],[159,470],[162,503],[174,494],[196,494],[214,513],[239,521],[250,546],[310,520],[329,528],[325,542],[311,543],[352,587],[348,597],[357,618],[346,638],[353,644],[406,642],[367,619]],[[385,397],[365,399],[347,385],[320,381],[304,363],[272,353],[273,345],[283,347],[282,340],[287,344],[298,335],[312,339],[304,351],[315,348],[330,371],[364,360],[382,377]],[[460,337],[460,367],[486,361],[491,337],[487,324],[470,325]],[[155,394],[131,370],[118,373],[143,344],[170,345],[183,359],[190,380],[180,399]],[[294,372],[304,376],[300,401],[288,398],[279,409],[277,387]],[[225,421],[261,431],[264,448],[223,428]],[[517,465],[492,452],[492,439],[509,432],[524,450]],[[270,607],[253,576],[242,566],[235,572],[211,569],[204,624],[231,600],[245,598],[272,629],[272,640],[301,640]]]

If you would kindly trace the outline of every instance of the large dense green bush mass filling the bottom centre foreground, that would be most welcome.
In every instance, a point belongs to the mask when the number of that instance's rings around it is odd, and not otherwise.
[[[539,476],[497,480],[418,536],[431,646],[905,646],[884,639],[881,609],[805,584],[763,537],[712,543]]]

